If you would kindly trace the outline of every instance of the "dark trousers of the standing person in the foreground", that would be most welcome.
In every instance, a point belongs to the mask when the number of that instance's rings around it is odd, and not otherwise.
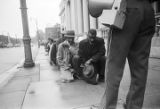
[[[142,109],[154,28],[151,4],[147,1],[128,0],[123,30],[112,30],[105,72],[106,89],[99,109],[116,109],[126,58],[131,71],[126,109]]]

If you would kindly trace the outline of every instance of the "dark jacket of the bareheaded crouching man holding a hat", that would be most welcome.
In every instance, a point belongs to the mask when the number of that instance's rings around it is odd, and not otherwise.
[[[94,44],[90,44],[88,39],[79,43],[78,55],[83,59],[83,62],[90,58],[96,62],[105,55],[105,52],[104,39],[102,38],[96,37]]]

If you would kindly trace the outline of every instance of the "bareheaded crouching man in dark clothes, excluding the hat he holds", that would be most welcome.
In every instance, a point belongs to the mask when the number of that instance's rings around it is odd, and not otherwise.
[[[106,61],[105,52],[104,40],[97,37],[95,29],[90,29],[87,38],[79,43],[78,55],[73,58],[73,67],[76,73],[83,78],[84,75],[80,66],[92,64],[95,73],[98,73],[99,78],[103,80]]]

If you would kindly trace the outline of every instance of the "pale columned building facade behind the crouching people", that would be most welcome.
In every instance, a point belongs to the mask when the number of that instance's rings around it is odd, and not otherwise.
[[[160,12],[160,2],[153,4],[155,12]],[[96,29],[100,37],[106,38],[107,27],[99,23],[88,12],[88,0],[61,0],[61,31],[74,30],[77,36],[83,36],[90,28]]]

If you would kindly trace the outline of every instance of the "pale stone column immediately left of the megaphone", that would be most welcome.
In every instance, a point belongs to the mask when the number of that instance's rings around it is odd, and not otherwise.
[[[88,0],[82,0],[83,1],[83,26],[84,26],[84,32],[88,32],[90,28],[89,23],[89,12],[88,12]]]

